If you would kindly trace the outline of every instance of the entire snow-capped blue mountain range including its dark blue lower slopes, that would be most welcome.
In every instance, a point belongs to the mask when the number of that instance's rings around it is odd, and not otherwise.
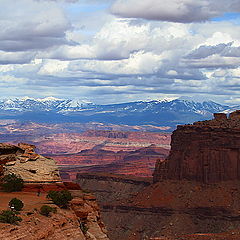
[[[237,108],[237,107],[235,107]],[[231,112],[229,106],[191,99],[137,101],[99,105],[83,100],[47,97],[0,100],[0,119],[51,122],[102,122],[128,125],[171,125],[211,119],[215,112]]]

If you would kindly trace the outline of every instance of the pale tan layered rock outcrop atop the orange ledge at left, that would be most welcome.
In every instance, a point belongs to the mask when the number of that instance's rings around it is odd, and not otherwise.
[[[0,144],[0,174],[15,173],[25,182],[61,181],[56,163],[34,152],[35,146]]]

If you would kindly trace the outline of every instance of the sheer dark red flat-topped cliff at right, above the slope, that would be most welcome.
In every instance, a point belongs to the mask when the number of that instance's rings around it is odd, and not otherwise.
[[[156,163],[153,176],[154,182],[240,180],[240,111],[178,126],[172,134],[170,154]]]

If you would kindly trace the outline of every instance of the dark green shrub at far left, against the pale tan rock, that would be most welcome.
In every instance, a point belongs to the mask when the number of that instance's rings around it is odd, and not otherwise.
[[[23,179],[14,173],[10,173],[3,177],[3,190],[6,192],[17,192],[23,188]]]

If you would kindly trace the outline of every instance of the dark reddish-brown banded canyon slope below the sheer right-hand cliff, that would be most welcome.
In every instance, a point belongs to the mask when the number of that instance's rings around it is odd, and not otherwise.
[[[96,173],[78,174],[77,182],[96,195],[112,240],[218,239],[218,235],[230,240],[224,237],[232,232],[239,239],[239,182],[151,184],[143,178]]]

